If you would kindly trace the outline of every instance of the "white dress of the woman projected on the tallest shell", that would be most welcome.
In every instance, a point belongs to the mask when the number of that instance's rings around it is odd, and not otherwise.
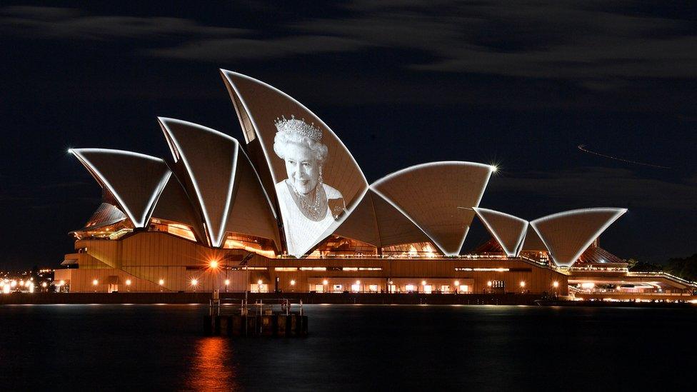
[[[324,186],[324,193],[328,199],[342,198],[341,192],[326,184],[322,184],[322,186]],[[279,197],[288,253],[293,256],[303,256],[322,239],[324,233],[333,223],[338,223],[334,220],[329,206],[327,206],[326,214],[321,221],[312,221],[304,216],[295,203],[285,180],[276,184],[276,196]]]

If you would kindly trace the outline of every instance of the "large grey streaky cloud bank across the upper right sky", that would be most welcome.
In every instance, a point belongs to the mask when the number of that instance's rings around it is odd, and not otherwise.
[[[583,3],[392,1],[351,9],[359,15],[296,28],[433,54],[436,61],[408,65],[419,71],[583,79],[595,81],[592,88],[598,79],[697,75],[697,35],[680,19],[630,16]]]

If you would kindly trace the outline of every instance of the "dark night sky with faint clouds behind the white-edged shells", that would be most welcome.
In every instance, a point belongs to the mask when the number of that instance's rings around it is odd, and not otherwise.
[[[498,164],[483,207],[530,220],[626,207],[609,251],[697,252],[697,8],[51,3],[0,5],[0,269],[59,266],[99,206],[69,147],[169,157],[156,116],[244,140],[219,69],[308,106],[369,182],[428,161]],[[486,239],[475,221],[463,250]]]

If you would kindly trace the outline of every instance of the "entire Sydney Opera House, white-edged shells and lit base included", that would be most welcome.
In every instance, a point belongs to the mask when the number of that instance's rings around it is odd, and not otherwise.
[[[670,293],[597,238],[626,212],[533,221],[480,206],[496,168],[411,166],[368,184],[341,139],[282,91],[221,71],[243,140],[158,119],[171,156],[71,149],[102,189],[61,291]],[[472,224],[491,241],[463,254]],[[592,285],[592,286],[591,286]]]

